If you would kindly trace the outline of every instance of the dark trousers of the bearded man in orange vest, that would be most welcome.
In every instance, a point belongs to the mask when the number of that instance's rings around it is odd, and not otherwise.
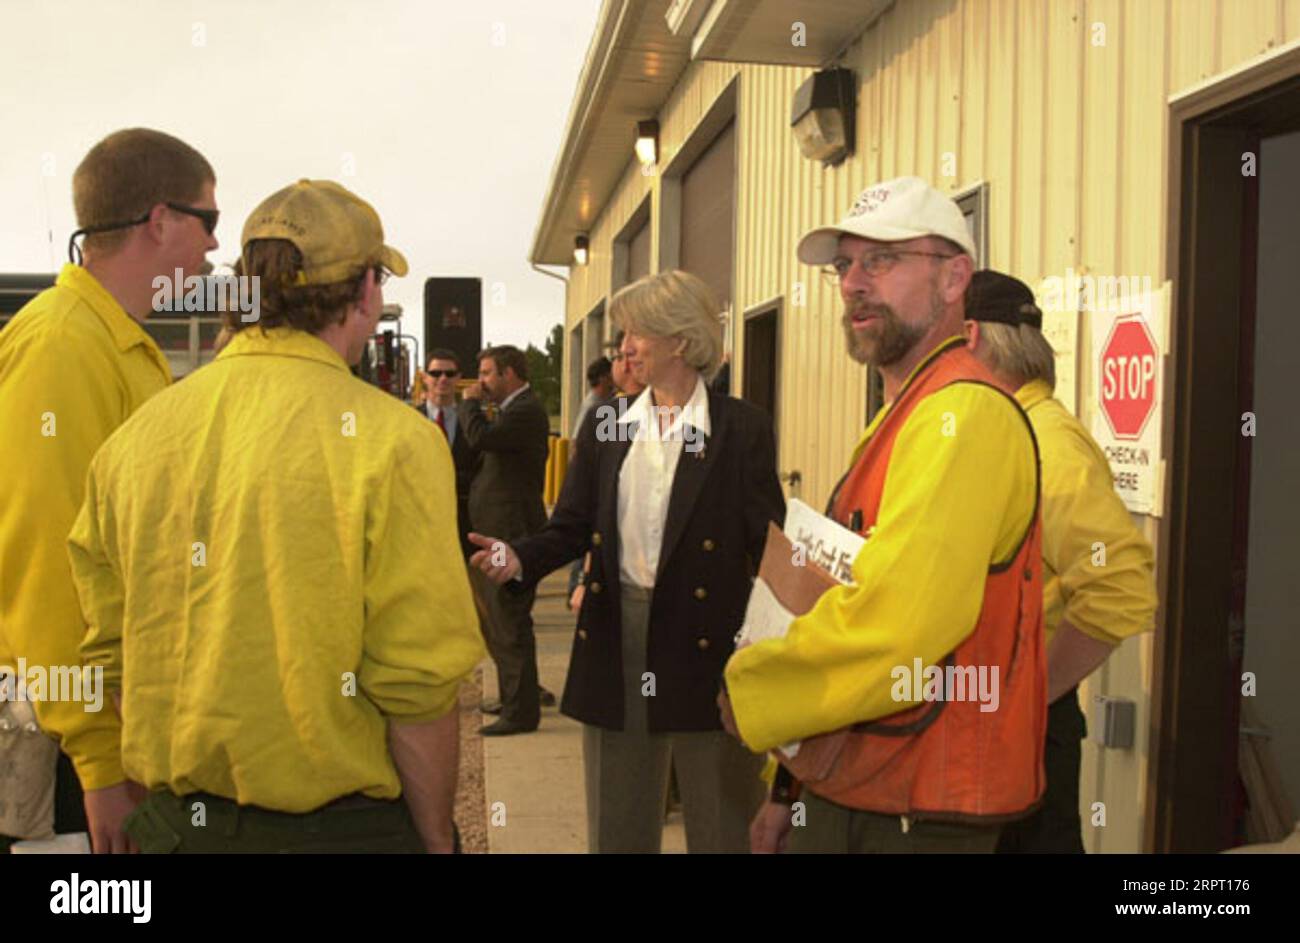
[[[898,816],[849,809],[803,790],[805,822],[796,821],[788,851],[793,855],[992,855],[1001,825],[911,822]]]

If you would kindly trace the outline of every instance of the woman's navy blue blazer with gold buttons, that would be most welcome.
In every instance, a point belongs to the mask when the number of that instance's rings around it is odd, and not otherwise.
[[[608,419],[601,407],[589,412],[550,522],[511,545],[524,566],[525,581],[516,587],[592,550],[560,710],[621,730],[623,688],[641,679],[623,678],[621,654],[618,488],[630,438],[604,434],[614,427]],[[767,524],[785,520],[767,414],[710,390],[708,419],[712,434],[698,451],[682,451],[668,498],[650,605],[651,732],[722,728],[715,698],[723,666],[745,618]]]

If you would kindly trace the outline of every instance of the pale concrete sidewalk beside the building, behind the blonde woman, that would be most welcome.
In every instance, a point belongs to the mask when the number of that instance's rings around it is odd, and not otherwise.
[[[564,568],[542,580],[533,604],[537,670],[542,685],[556,698],[564,691],[576,622],[566,606],[567,589]],[[489,659],[484,665],[484,696],[495,695],[497,670]],[[560,715],[556,708],[543,708],[536,734],[484,737],[484,801],[489,852],[586,852],[581,724]],[[663,851],[685,849],[677,812],[664,825]]]

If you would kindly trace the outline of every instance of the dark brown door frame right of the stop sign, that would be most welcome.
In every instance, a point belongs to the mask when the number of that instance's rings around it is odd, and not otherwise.
[[[1161,444],[1169,486],[1158,528],[1162,628],[1152,669],[1148,852],[1214,852],[1231,840],[1240,679],[1225,666],[1240,644],[1234,527],[1248,481],[1236,440],[1243,323],[1253,321],[1243,304],[1254,278],[1242,166],[1268,121],[1264,103],[1282,95],[1300,100],[1300,42],[1169,99],[1165,272],[1173,317]],[[1300,109],[1286,120],[1300,121]]]

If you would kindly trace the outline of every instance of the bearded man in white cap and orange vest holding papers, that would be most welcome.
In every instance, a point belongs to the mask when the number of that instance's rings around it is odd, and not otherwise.
[[[753,847],[992,852],[1040,801],[1045,669],[1036,445],[965,345],[975,248],[957,204],[904,177],[798,254],[838,285],[887,403],[827,509],[867,537],[853,583],[727,666],[729,728],[755,750],[806,741]]]

